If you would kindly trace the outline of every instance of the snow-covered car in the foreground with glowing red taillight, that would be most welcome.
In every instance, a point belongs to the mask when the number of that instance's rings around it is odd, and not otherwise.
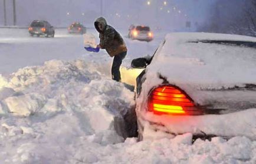
[[[137,58],[139,139],[192,133],[195,138],[256,139],[256,38],[166,35],[151,58]]]

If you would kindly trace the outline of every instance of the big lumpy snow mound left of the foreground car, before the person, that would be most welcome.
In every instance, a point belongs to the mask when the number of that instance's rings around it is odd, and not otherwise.
[[[49,61],[1,78],[0,161],[62,163],[86,140],[123,141],[134,93],[90,66]]]

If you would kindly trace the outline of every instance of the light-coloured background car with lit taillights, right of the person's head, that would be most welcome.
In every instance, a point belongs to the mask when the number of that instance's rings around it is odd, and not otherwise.
[[[139,41],[147,41],[150,42],[153,40],[153,32],[150,31],[149,26],[142,26],[142,25],[131,25],[129,27],[129,34],[128,38],[136,39]]]

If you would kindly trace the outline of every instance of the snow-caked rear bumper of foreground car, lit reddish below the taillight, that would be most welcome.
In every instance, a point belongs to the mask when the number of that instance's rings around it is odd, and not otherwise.
[[[225,115],[169,116],[152,112],[137,114],[143,138],[152,137],[153,132],[170,136],[192,133],[195,136],[247,136],[256,140],[256,109],[247,109]],[[150,135],[149,135],[150,133]]]

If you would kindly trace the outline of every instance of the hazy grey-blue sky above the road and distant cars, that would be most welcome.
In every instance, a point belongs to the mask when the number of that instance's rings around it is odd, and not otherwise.
[[[0,0],[0,25],[4,25],[4,0]],[[186,21],[202,24],[214,0],[103,0],[103,16],[109,24],[126,28],[145,24],[179,30]],[[100,0],[16,0],[17,24],[28,26],[45,19],[54,26],[80,21],[87,26],[100,16]],[[6,0],[8,25],[12,25],[12,1]]]

